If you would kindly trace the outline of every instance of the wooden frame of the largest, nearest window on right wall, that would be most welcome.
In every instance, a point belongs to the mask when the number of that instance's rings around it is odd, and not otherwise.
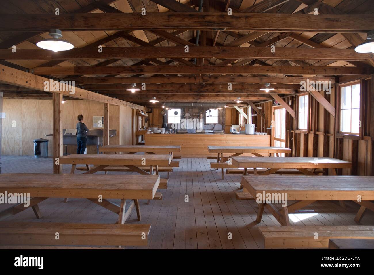
[[[343,136],[350,136],[350,137],[361,137],[362,135],[362,125],[361,127],[359,127],[359,132],[358,133],[353,133],[353,132],[343,132],[341,131],[341,120],[342,120],[342,117],[341,117],[341,90],[345,87],[349,87],[349,86],[353,86],[353,85],[359,85],[360,86],[360,92],[359,92],[359,95],[360,95],[360,100],[359,100],[359,120],[361,120],[361,124],[362,124],[362,83],[360,81],[355,81],[355,82],[349,82],[349,83],[345,83],[344,85],[339,85],[339,90],[338,90],[338,96],[337,96],[337,105],[338,105],[338,116],[339,116],[339,119],[337,120],[337,134],[339,135],[343,135]],[[355,108],[357,109],[357,108]],[[351,88],[351,108],[350,109],[346,109],[346,110],[351,110],[351,116],[350,116],[350,128],[352,130],[352,88]]]

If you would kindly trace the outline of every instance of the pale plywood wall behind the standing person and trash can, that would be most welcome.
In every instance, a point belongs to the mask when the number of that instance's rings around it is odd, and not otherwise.
[[[53,153],[52,137],[52,100],[4,99],[2,127],[2,155],[34,155],[35,138],[46,138],[48,155]],[[110,129],[116,129],[116,137],[110,138],[110,144],[132,144],[132,109],[124,106],[110,106]],[[90,100],[68,100],[62,106],[62,128],[75,128],[77,115],[83,114],[84,122],[92,127],[92,116],[102,116],[104,104]],[[15,126],[15,127],[12,127]],[[95,146],[88,147],[88,153],[96,153]],[[76,152],[76,146],[68,146],[68,153]],[[65,153],[65,146],[64,146]]]

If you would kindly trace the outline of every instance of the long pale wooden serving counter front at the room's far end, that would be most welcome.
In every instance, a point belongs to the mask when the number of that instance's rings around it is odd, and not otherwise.
[[[215,156],[208,152],[208,146],[270,146],[270,135],[234,134],[145,134],[145,145],[179,145],[182,158],[206,158]],[[230,156],[230,153],[224,156]],[[253,156],[243,154],[243,156]]]

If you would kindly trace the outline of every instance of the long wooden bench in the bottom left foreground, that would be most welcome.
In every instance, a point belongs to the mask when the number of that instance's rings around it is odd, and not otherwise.
[[[151,224],[0,222],[0,245],[146,246],[150,229]]]

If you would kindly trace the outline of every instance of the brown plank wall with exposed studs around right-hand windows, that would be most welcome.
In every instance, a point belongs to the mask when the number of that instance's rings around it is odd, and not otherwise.
[[[297,96],[288,96],[283,100],[288,103],[292,101],[291,108],[296,112],[294,119],[286,112],[286,147],[290,148],[290,156],[308,156],[308,157],[331,157],[343,159],[352,162],[352,169],[339,169],[339,175],[374,175],[374,116],[371,115],[371,109],[374,107],[374,98],[371,97],[372,88],[371,79],[361,80],[361,133],[359,136],[341,135],[338,131],[339,109],[337,93],[340,87],[332,88],[331,94],[324,97],[337,109],[336,117],[328,113],[322,104],[318,103],[312,95],[309,94],[309,131],[297,129]],[[256,104],[262,107],[266,119],[257,115],[252,116],[252,122],[256,124],[256,131],[261,132],[270,128],[272,121],[272,104],[265,102]],[[371,107],[373,106],[373,107]],[[252,110],[252,114],[256,114]],[[271,134],[267,129],[267,133]]]

